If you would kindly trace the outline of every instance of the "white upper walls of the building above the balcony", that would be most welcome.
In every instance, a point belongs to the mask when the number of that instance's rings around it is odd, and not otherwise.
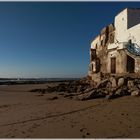
[[[115,40],[121,43],[131,39],[132,43],[140,45],[140,24],[138,23],[140,23],[140,9],[123,10],[115,17]]]

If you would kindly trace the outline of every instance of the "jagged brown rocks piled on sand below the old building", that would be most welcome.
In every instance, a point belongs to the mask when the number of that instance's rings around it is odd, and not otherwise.
[[[64,98],[89,100],[95,98],[113,99],[126,95],[140,95],[140,79],[132,77],[109,76],[94,85],[92,80],[87,78],[61,83],[57,86],[48,86],[46,89],[33,89],[31,92],[42,94],[57,92]]]

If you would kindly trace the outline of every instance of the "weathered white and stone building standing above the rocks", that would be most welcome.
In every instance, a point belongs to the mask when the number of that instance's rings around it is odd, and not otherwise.
[[[124,9],[92,41],[88,75],[101,73],[140,75],[140,9]]]

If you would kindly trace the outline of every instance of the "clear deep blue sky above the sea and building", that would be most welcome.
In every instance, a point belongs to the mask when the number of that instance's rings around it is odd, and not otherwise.
[[[0,77],[83,77],[90,43],[140,2],[0,2]]]

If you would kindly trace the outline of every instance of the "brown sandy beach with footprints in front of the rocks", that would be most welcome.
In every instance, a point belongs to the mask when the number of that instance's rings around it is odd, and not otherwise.
[[[28,92],[46,85],[0,86],[0,138],[140,138],[140,97],[77,101]]]

